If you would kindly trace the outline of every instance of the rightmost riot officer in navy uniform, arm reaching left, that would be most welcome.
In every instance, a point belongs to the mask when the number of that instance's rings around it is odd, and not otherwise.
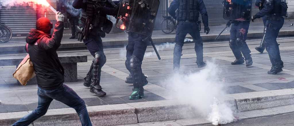
[[[277,37],[280,29],[283,27],[283,16],[286,16],[288,6],[283,0],[264,0],[260,4],[262,5],[261,10],[253,15],[251,20],[254,21],[256,18],[267,16],[264,43],[272,63],[272,68],[268,71],[268,74],[277,74],[283,71],[282,68],[284,67]]]

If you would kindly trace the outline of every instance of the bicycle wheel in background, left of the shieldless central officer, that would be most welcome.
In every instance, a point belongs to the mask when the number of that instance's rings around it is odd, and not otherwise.
[[[171,18],[171,16],[163,16],[163,21],[161,21],[161,31],[163,33],[169,34],[177,28],[176,20]]]

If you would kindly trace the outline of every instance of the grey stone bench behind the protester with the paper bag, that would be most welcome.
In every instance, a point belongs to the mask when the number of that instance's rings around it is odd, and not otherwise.
[[[24,59],[26,55],[8,55],[0,56],[0,66],[16,66]],[[64,81],[75,82],[78,81],[77,63],[87,62],[86,55],[58,55],[61,65],[64,68]],[[11,75],[12,76],[12,75]],[[28,84],[36,84],[36,77],[31,79]]]

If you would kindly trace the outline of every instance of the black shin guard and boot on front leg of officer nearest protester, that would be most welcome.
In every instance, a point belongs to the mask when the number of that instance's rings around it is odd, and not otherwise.
[[[106,57],[104,54],[95,53],[93,59],[93,70],[92,70],[92,81],[90,92],[97,94],[98,96],[105,96],[106,93],[102,91],[100,86],[101,68],[106,62]]]

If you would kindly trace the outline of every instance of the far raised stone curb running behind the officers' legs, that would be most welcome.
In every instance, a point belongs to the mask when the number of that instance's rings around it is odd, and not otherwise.
[[[280,36],[283,35],[294,35],[293,30],[283,30],[280,31],[279,33]],[[209,35],[201,35],[202,40],[205,42],[206,40],[214,40],[216,38],[217,34],[209,34]],[[255,37],[262,37],[263,33],[261,32],[250,32],[247,34],[248,38],[255,38]],[[187,38],[192,37],[190,35],[187,35]],[[230,34],[222,34],[219,37],[219,40],[224,40],[224,39],[229,39]],[[163,42],[174,42],[175,41],[175,35],[173,37],[153,37],[153,42],[154,43],[163,43]],[[118,45],[126,45],[128,43],[128,40],[126,38],[123,38],[122,40],[119,41],[113,41],[113,40],[106,40],[103,41],[103,46],[118,46]],[[67,48],[86,48],[85,44],[83,42],[79,41],[74,41],[74,42],[66,42],[62,43],[59,49],[67,49]],[[24,51],[24,45],[23,44],[16,44],[16,45],[9,45],[5,47],[0,47],[0,52],[10,52],[11,50],[13,51]]]

